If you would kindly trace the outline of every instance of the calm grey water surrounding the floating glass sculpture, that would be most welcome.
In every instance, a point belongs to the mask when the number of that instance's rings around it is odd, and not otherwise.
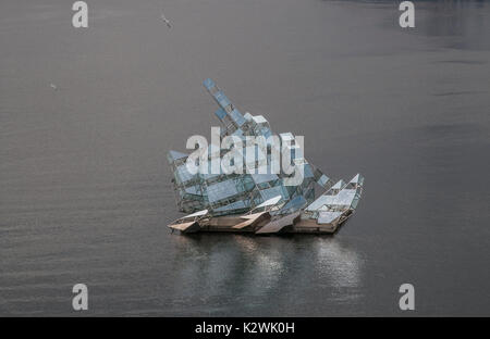
[[[490,2],[0,4],[0,315],[490,315]],[[172,22],[169,29],[160,10]],[[170,234],[166,152],[242,112],[366,177],[334,237]],[[50,87],[54,84],[57,89]]]

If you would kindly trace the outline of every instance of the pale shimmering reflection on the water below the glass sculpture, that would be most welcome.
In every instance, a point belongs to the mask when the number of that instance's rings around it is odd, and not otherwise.
[[[187,298],[273,298],[283,289],[301,296],[307,292],[307,286],[324,281],[335,287],[331,290],[335,298],[352,299],[355,293],[345,288],[351,290],[360,284],[363,261],[358,253],[330,237],[174,238],[174,292]]]

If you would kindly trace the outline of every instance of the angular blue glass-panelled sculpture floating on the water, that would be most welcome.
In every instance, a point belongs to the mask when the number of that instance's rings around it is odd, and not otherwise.
[[[244,140],[245,145],[247,137],[272,136],[264,116],[243,115],[211,79],[206,79],[204,86],[219,105],[215,114],[222,124],[222,138],[233,136]],[[282,146],[287,146],[294,165],[303,168],[303,180],[298,185],[285,185],[291,174],[271,173],[273,150],[270,146],[252,150],[245,147],[243,152],[243,163],[247,166],[246,153],[259,153],[255,159],[265,162],[255,165],[265,166],[262,170],[267,171],[260,172],[262,174],[257,171],[225,174],[221,170],[213,174],[191,173],[186,165],[189,154],[170,151],[168,160],[176,204],[181,212],[191,214],[172,222],[169,227],[181,233],[333,234],[355,211],[363,192],[363,176],[357,174],[348,183],[340,180],[335,184],[302,156],[291,133],[280,134],[279,139]],[[211,146],[208,151],[208,154],[213,152]],[[220,150],[219,155],[225,151],[229,150]],[[317,199],[316,185],[324,191]]]

